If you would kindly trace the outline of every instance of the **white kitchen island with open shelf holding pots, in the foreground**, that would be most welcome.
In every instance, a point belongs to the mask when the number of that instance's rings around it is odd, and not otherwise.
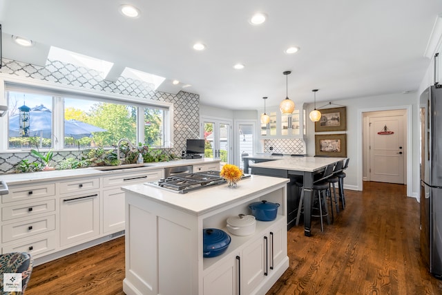
[[[289,267],[287,179],[251,175],[235,189],[214,185],[175,193],[144,184],[126,192],[126,294],[265,294]],[[276,220],[257,221],[250,236],[233,236],[229,216],[249,204],[280,204]],[[203,229],[231,236],[224,254],[203,258]]]

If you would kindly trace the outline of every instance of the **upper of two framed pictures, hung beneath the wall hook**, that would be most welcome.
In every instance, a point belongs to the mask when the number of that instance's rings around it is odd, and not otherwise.
[[[321,117],[315,122],[315,131],[346,131],[347,130],[347,108],[324,108],[319,110]]]

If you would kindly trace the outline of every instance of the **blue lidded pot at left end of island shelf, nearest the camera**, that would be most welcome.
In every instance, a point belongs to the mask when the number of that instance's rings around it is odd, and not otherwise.
[[[230,236],[221,229],[202,230],[202,256],[215,257],[227,250],[231,242]]]

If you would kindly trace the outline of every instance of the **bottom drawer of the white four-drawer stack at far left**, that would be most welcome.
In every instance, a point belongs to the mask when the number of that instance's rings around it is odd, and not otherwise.
[[[57,247],[57,238],[55,237],[55,234],[51,234],[41,238],[28,240],[26,242],[19,242],[14,245],[5,246],[3,247],[3,253],[28,252],[33,258],[36,258],[40,254],[54,250],[55,247]]]

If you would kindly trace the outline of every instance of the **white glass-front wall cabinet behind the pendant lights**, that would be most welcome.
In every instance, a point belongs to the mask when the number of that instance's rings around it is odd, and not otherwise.
[[[262,113],[262,111],[259,111],[258,115],[261,117]],[[270,108],[267,114],[270,117],[270,122],[268,124],[260,124],[261,138],[301,138],[306,135],[306,110],[303,108],[303,104],[301,104],[301,108],[296,108],[291,115],[282,115],[278,108]],[[260,120],[260,117],[258,117],[258,120]]]

